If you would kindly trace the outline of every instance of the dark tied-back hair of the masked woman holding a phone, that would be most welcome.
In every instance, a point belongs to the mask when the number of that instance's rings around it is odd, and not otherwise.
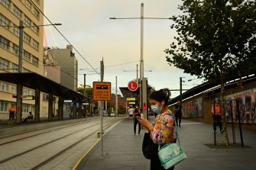
[[[149,99],[154,99],[158,102],[165,101],[165,106],[168,105],[169,98],[170,90],[168,88],[160,89],[159,91],[153,91],[153,93],[149,96]]]

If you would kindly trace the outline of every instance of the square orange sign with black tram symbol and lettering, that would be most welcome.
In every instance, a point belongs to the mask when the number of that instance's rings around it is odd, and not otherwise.
[[[93,82],[93,100],[111,100],[111,82]]]

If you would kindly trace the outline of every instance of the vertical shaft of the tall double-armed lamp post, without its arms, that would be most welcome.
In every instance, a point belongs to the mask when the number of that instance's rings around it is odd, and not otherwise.
[[[141,3],[141,62],[140,62],[140,98],[141,98],[141,108],[143,109],[143,85],[142,81],[144,78],[144,61],[143,61],[143,34],[144,34],[144,3]]]

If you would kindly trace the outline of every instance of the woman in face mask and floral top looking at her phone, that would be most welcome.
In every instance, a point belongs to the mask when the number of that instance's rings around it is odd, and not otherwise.
[[[168,88],[154,91],[149,97],[151,110],[157,114],[153,124],[149,123],[148,120],[137,117],[138,122],[151,133],[151,140],[153,140],[154,149],[156,149],[154,156],[151,156],[151,170],[164,170],[157,155],[158,145],[164,146],[166,143],[175,143],[177,139],[175,127],[173,126],[173,114],[167,107],[169,98],[170,91]],[[174,167],[168,168],[168,170],[172,169],[174,169]]]

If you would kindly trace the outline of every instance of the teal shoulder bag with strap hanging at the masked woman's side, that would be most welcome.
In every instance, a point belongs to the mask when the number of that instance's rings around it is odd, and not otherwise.
[[[163,117],[164,119],[164,117]],[[175,117],[173,115],[173,120],[175,122]],[[162,123],[160,124],[160,130],[162,129]],[[183,149],[180,147],[180,138],[175,122],[175,129],[177,133],[178,143],[167,143],[162,148],[158,145],[158,156],[162,166],[167,169],[177,165],[178,163],[182,162],[186,159],[186,154],[183,152]]]

